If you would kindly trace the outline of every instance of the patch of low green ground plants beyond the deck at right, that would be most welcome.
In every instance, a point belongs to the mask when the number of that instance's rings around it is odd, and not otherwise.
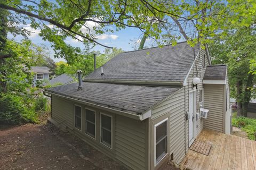
[[[255,118],[248,118],[243,116],[237,117],[236,113],[233,113],[232,125],[244,130],[247,133],[249,139],[255,140],[255,132],[256,132]]]

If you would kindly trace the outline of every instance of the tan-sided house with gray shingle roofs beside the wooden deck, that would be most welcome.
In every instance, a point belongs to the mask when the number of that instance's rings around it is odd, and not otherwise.
[[[81,84],[45,91],[52,123],[129,169],[179,164],[203,128],[230,133],[227,67],[211,65],[207,46],[124,52]]]

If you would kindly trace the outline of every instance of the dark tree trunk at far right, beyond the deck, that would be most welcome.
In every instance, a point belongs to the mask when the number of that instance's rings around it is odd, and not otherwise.
[[[245,117],[247,117],[248,105],[251,100],[251,89],[249,89],[249,88],[252,87],[253,77],[254,77],[254,75],[252,75],[251,73],[248,75],[248,79],[247,79],[246,86],[244,89],[243,107],[242,108],[243,108],[243,115]]]

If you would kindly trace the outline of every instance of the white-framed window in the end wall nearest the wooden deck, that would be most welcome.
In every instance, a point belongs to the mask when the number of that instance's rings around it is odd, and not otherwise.
[[[155,125],[155,165],[167,154],[167,120]]]

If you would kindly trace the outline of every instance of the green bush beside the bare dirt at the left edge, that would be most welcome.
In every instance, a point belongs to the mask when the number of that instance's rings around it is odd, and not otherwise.
[[[36,123],[37,114],[26,106],[22,97],[0,94],[0,124]]]

